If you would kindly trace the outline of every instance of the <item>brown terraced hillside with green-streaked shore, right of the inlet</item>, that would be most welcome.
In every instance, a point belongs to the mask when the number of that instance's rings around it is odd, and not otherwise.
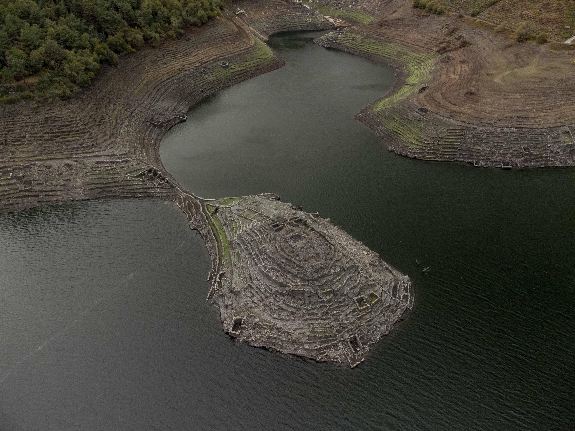
[[[317,43],[400,67],[393,93],[358,114],[397,153],[504,168],[575,161],[567,56],[409,5]]]

